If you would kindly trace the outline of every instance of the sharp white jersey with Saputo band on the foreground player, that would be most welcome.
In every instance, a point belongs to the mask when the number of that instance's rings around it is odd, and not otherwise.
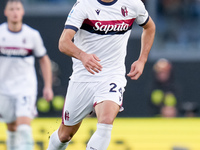
[[[92,75],[78,59],[73,60],[73,81],[100,81],[112,75],[125,78],[125,56],[133,22],[143,26],[149,15],[141,0],[78,0],[70,11],[65,29],[77,31],[75,45],[96,54],[103,69]]]

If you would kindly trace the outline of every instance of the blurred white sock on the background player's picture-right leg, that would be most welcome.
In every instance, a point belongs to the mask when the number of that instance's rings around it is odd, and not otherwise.
[[[20,150],[33,150],[34,142],[32,138],[32,129],[29,125],[22,124],[17,127],[20,138]]]

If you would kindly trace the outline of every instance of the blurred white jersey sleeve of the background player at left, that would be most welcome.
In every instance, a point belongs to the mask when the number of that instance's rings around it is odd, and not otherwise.
[[[38,31],[35,31],[35,35],[33,36],[34,38],[34,42],[35,42],[35,46],[33,49],[33,54],[35,57],[42,57],[44,55],[46,55],[46,48],[44,46],[43,40],[41,38],[41,35]]]

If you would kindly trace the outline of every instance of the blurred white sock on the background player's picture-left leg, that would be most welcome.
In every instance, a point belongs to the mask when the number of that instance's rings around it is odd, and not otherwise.
[[[19,138],[17,131],[7,131],[7,150],[17,150],[19,146]]]

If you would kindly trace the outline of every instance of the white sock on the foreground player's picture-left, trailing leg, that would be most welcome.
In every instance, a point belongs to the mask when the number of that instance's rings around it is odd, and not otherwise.
[[[58,137],[58,130],[52,133],[47,150],[65,150],[69,142],[62,143]]]

